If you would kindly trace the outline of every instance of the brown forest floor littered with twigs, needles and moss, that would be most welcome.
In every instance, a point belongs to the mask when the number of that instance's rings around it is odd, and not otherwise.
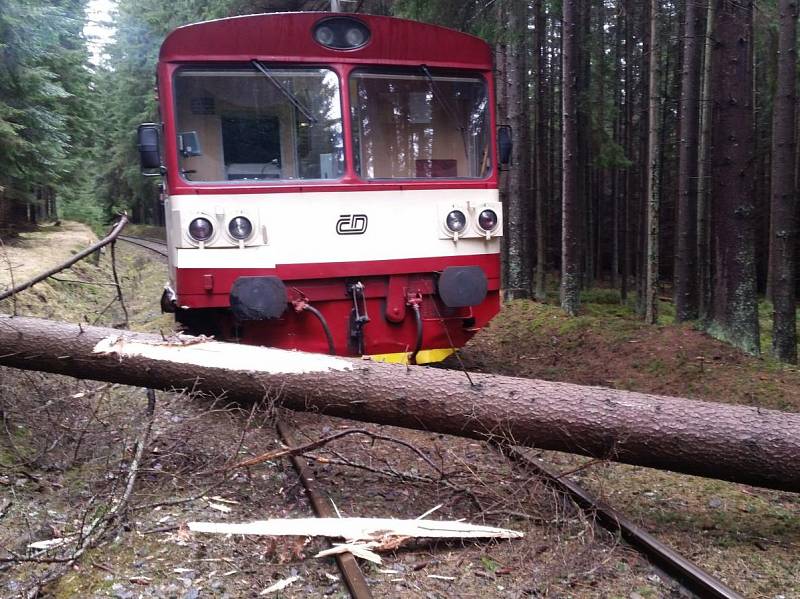
[[[131,234],[129,231],[128,234]],[[145,234],[155,236],[155,232]],[[85,227],[42,227],[7,243],[15,279],[55,263],[92,238]],[[0,253],[3,250],[0,249]],[[158,300],[166,265],[120,242],[118,268],[130,328],[168,331]],[[25,271],[27,273],[27,271]],[[0,277],[3,275],[0,274]],[[125,325],[113,302],[110,255],[0,303],[0,311],[105,326]],[[80,281],[80,282],[78,282]],[[0,284],[7,285],[0,278]],[[464,349],[471,370],[602,385],[712,401],[800,410],[800,372],[757,359],[690,326],[641,324],[616,293],[584,295],[578,318],[555,305],[513,302]],[[764,315],[768,309],[764,309]],[[367,428],[414,445],[437,470],[391,442],[348,437],[314,452],[315,484],[343,515],[465,518],[517,529],[499,543],[418,543],[362,563],[375,597],[677,596],[634,551],[485,443],[392,427],[158,393],[156,417],[123,526],[61,572],[57,561],[15,561],[27,545],[80,531],[124,486],[146,405],[142,389],[0,369],[0,596],[49,574],[52,597],[346,597],[320,540],[193,535],[195,520],[311,515],[290,464],[219,472],[279,445],[276,418],[301,440]],[[563,470],[585,458],[546,452]],[[446,476],[442,476],[442,471]],[[610,463],[576,480],[748,597],[800,597],[800,496]],[[10,553],[13,551],[14,554]],[[69,556],[69,546],[47,557]]]

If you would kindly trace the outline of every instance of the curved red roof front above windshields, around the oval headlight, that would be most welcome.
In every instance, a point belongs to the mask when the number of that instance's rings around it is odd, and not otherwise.
[[[328,17],[349,17],[367,25],[368,44],[332,50],[314,41],[312,30]],[[186,25],[161,46],[162,62],[249,61],[426,64],[489,70],[492,53],[480,38],[453,29],[372,15],[295,12],[247,15]]]

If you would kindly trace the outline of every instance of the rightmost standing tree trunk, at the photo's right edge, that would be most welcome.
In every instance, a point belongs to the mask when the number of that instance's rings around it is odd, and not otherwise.
[[[774,305],[772,349],[775,356],[797,363],[795,245],[797,205],[795,126],[797,85],[797,2],[779,0],[778,89],[772,126],[771,277]]]

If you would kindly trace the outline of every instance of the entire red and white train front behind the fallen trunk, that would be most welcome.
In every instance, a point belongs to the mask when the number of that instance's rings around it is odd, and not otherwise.
[[[175,30],[158,70],[170,286],[192,332],[426,363],[498,312],[489,47],[386,17]],[[155,137],[161,141],[154,162]]]

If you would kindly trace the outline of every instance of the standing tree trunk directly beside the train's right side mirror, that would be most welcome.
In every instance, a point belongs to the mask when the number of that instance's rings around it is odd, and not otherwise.
[[[508,30],[511,39],[508,44],[508,116],[509,122],[516,132],[517,143],[514,144],[510,171],[510,189],[508,198],[508,278],[506,280],[506,298],[517,299],[530,297],[530,274],[527,267],[528,256],[525,254],[525,240],[528,235],[529,200],[527,185],[527,164],[529,148],[527,106],[527,6],[525,0],[511,0],[508,5]]]

